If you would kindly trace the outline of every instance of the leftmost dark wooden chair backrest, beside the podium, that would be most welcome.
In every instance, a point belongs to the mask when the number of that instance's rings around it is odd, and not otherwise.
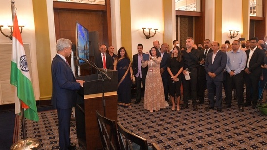
[[[120,150],[116,121],[100,115],[97,110],[96,117],[103,150]]]

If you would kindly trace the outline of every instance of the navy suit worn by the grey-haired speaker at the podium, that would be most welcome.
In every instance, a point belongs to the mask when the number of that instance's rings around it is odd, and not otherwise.
[[[71,109],[76,105],[80,83],[76,82],[71,67],[59,55],[51,64],[52,96],[51,102],[57,109],[60,150],[67,150],[70,145]]]

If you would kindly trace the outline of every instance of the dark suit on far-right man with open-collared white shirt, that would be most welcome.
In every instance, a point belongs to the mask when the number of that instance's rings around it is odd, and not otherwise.
[[[247,54],[247,62],[246,62],[246,68],[248,68],[247,63],[249,59],[249,53],[251,49],[246,50]],[[263,63],[264,60],[264,51],[256,48],[254,51],[250,61],[249,61],[249,71],[251,72],[250,74],[245,74],[245,84],[246,84],[246,103],[245,105],[251,105],[251,100],[253,105],[257,104],[258,100],[258,94],[259,94],[259,78],[262,74],[262,68],[261,64]]]

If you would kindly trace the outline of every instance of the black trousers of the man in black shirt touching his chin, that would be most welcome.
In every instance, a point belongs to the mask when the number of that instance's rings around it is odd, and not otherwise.
[[[195,106],[197,105],[197,69],[190,69],[189,72],[190,80],[185,80],[184,75],[182,75],[183,101],[185,105],[188,105],[188,100],[191,98],[192,105]]]

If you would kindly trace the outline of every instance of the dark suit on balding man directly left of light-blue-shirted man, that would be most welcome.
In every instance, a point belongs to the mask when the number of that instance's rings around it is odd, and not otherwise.
[[[223,69],[226,66],[227,56],[226,53],[218,50],[214,62],[212,63],[213,52],[209,53],[205,62],[205,70],[207,72],[207,89],[208,99],[210,101],[210,107],[216,106],[217,109],[222,108],[222,81],[223,81]],[[211,78],[208,73],[215,73],[216,77]],[[216,92],[216,102],[214,100]]]

